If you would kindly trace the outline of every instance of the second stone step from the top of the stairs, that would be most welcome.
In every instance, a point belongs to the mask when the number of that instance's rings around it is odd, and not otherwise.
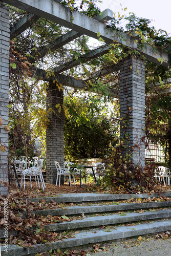
[[[80,214],[91,214],[98,212],[113,212],[113,211],[124,211],[124,210],[134,210],[134,209],[147,209],[156,207],[169,207],[171,206],[171,201],[163,202],[149,202],[149,203],[120,203],[109,204],[109,205],[90,205],[90,206],[69,206],[57,209],[47,209],[47,210],[36,210],[31,211],[31,215],[42,215],[42,216],[58,216],[58,215],[80,215]],[[23,212],[23,218],[26,218],[28,212]]]

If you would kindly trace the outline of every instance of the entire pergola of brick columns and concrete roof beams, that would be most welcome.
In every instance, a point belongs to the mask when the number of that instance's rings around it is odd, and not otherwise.
[[[6,195],[8,187],[8,92],[9,92],[9,41],[15,38],[19,33],[23,32],[30,26],[30,22],[36,21],[39,17],[43,17],[59,25],[71,29],[68,33],[61,35],[52,41],[48,46],[45,46],[40,51],[40,57],[46,56],[48,50],[54,51],[81,36],[82,34],[98,39],[97,33],[103,38],[105,45],[82,55],[80,58],[72,62],[65,63],[65,65],[54,68],[53,72],[58,82],[65,86],[73,88],[84,89],[87,88],[87,83],[94,76],[92,74],[87,80],[77,80],[73,77],[68,77],[60,74],[63,71],[69,70],[79,65],[80,60],[88,61],[92,58],[104,55],[110,50],[110,44],[120,44],[125,48],[139,50],[139,42],[131,35],[123,32],[111,31],[105,26],[105,20],[112,18],[112,11],[106,9],[99,16],[90,18],[78,11],[71,13],[70,9],[61,5],[61,0],[5,0],[5,3],[25,10],[29,15],[24,16],[19,20],[13,28],[9,26],[9,10],[0,1],[0,27],[1,27],[1,41],[0,41],[0,111],[2,118],[2,126],[0,129],[1,146],[6,150],[1,151],[1,171],[0,171],[0,194]],[[72,21],[71,21],[72,15]],[[159,63],[160,65],[168,67],[170,59],[168,52],[160,52],[145,44],[142,54],[146,60]],[[100,74],[109,74],[114,72],[115,66],[108,67],[100,71]],[[122,154],[131,153],[133,162],[140,166],[145,165],[145,144],[144,144],[144,129],[145,129],[145,68],[144,61],[140,58],[127,57],[120,63],[120,91],[114,90],[113,97],[120,97],[120,138],[125,138],[125,131],[129,133],[126,148]],[[49,82],[49,89],[47,95],[47,105],[55,111],[56,104],[63,104],[63,92],[59,91],[53,83],[54,77],[47,78],[45,70],[36,69],[36,76],[41,77],[42,80]],[[53,113],[50,117],[50,124],[47,129],[47,181],[55,183],[56,169],[54,160],[58,160],[63,165],[63,112],[55,115]],[[125,120],[127,122],[125,129]]]

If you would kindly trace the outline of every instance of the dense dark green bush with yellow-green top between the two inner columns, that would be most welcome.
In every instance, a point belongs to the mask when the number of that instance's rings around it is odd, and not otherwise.
[[[65,118],[66,159],[104,158],[108,156],[117,141],[117,131],[112,131],[111,121],[96,98],[85,101],[66,98],[68,118]],[[98,114],[99,113],[99,114]],[[110,146],[111,145],[111,146]]]

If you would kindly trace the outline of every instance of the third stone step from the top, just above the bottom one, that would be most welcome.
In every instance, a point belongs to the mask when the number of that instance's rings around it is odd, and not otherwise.
[[[80,229],[80,228],[95,228],[103,225],[115,225],[126,222],[136,222],[136,221],[147,221],[147,220],[157,220],[171,218],[170,210],[158,210],[158,211],[148,211],[142,214],[137,212],[132,212],[130,214],[119,215],[108,215],[108,216],[95,216],[88,217],[82,220],[74,220],[70,222],[62,222],[57,224],[44,225],[45,231],[55,232],[62,230]]]

